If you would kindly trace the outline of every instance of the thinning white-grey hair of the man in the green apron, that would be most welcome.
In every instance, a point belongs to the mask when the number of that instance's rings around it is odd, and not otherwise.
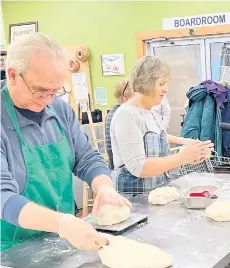
[[[51,37],[37,32],[19,37],[9,46],[6,70],[13,68],[17,75],[23,74],[29,58],[37,52],[44,53],[52,59],[63,60],[67,68],[68,57],[64,49]]]

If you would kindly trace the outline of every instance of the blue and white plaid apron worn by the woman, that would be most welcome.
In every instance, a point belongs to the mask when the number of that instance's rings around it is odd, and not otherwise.
[[[141,111],[140,111],[141,112]],[[154,119],[155,116],[152,113]],[[143,117],[143,116],[142,116]],[[156,119],[155,119],[156,120]],[[146,122],[146,133],[143,137],[146,157],[164,157],[169,155],[169,144],[165,130],[160,128],[160,135],[149,131]],[[127,198],[136,196],[137,194],[148,193],[156,187],[162,186],[168,182],[169,178],[166,173],[149,178],[138,178],[132,175],[125,165],[120,167],[116,179],[117,191]]]

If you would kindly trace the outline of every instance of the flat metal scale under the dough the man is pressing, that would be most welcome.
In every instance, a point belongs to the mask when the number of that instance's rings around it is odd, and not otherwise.
[[[124,232],[138,227],[139,225],[145,225],[148,221],[148,214],[130,213],[130,217],[119,224],[100,226],[97,224],[97,217],[88,216],[85,221],[90,223],[96,230],[100,232],[112,233],[113,235],[120,235]]]

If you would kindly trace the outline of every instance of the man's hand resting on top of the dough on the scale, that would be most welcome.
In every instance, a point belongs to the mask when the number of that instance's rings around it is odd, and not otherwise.
[[[121,196],[112,186],[101,186],[94,200],[92,215],[97,215],[101,205],[110,204],[115,206],[129,206],[128,199]]]

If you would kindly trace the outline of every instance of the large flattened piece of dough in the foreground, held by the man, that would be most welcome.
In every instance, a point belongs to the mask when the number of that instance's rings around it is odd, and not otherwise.
[[[109,245],[98,251],[101,262],[109,268],[166,268],[172,256],[150,244],[123,236],[103,234]]]

